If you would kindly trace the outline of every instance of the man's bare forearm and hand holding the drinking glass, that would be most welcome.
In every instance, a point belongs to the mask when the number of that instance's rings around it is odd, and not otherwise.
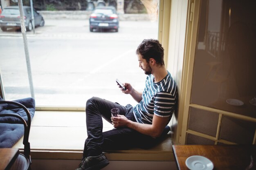
[[[115,128],[128,127],[151,137],[159,137],[168,121],[168,117],[159,117],[157,115],[153,116],[152,124],[140,124],[127,119],[124,115],[112,117],[111,119]]]

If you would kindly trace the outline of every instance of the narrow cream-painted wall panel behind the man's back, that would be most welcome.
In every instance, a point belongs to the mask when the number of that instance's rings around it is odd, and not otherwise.
[[[172,0],[167,66],[177,83],[179,98],[181,94],[182,75],[184,70],[183,62],[187,8],[188,0]],[[179,115],[181,115],[181,113]],[[180,135],[180,132],[176,131],[177,117],[173,117],[172,120],[172,124],[174,126],[173,130],[175,131],[173,142],[176,144],[177,135]]]

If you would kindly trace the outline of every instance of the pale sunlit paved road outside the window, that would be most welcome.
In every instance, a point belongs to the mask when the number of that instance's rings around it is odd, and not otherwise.
[[[115,79],[143,89],[135,50],[145,38],[157,38],[156,23],[120,22],[118,33],[91,33],[83,20],[46,20],[27,33],[37,105],[84,106],[92,96],[135,104]],[[0,44],[6,98],[30,96],[20,31],[0,32]]]

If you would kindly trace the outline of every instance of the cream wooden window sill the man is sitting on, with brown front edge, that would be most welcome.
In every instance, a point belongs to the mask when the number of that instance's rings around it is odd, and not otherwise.
[[[103,131],[112,125],[103,120]],[[84,111],[36,111],[31,123],[29,142],[32,159],[81,160],[86,138]],[[109,150],[109,160],[115,161],[174,161],[171,138],[144,149]],[[13,148],[23,148],[22,139]]]

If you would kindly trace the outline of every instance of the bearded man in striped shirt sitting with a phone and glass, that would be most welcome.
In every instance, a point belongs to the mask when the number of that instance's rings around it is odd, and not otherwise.
[[[136,51],[139,67],[147,76],[144,91],[138,92],[129,83],[125,94],[130,94],[139,104],[121,106],[98,97],[86,103],[86,126],[83,159],[76,170],[99,170],[109,164],[103,150],[125,150],[151,146],[159,139],[171,120],[177,99],[177,86],[164,66],[164,48],[158,40],[143,40]],[[111,109],[118,108],[120,115],[111,117]],[[102,132],[102,117],[114,129]]]

